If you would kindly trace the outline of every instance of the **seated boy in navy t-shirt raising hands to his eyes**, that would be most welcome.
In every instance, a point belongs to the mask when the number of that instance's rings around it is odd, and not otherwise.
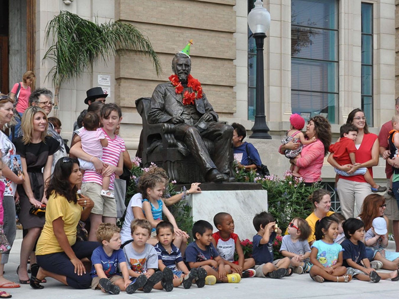
[[[253,226],[258,232],[252,240],[255,276],[266,277],[266,275],[269,275],[271,278],[281,278],[291,275],[292,269],[288,269],[290,266],[289,258],[273,260],[273,242],[277,234],[281,234],[273,216],[268,212],[260,212],[253,218]]]

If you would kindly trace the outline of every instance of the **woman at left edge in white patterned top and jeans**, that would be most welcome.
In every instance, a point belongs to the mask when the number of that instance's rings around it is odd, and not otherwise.
[[[12,107],[14,104],[14,100],[6,96],[5,94],[0,94],[0,128],[3,128],[5,124],[11,122],[12,116],[14,113],[12,112]],[[16,157],[16,150],[14,144],[8,139],[6,134],[0,130],[0,155],[1,159],[4,163],[3,167],[3,177],[1,181],[6,185],[4,190],[4,198],[3,198],[3,209],[4,209],[4,234],[7,237],[8,243],[10,246],[14,243],[15,234],[16,234],[16,223],[15,223],[15,202],[18,202],[18,193],[17,184],[22,184],[24,182],[24,178],[22,175],[19,177],[12,171],[13,167],[13,157]],[[14,201],[15,197],[15,201]],[[0,288],[1,287],[20,287],[18,283],[14,283],[5,279],[3,276],[4,264],[8,262],[10,251],[4,252],[2,254],[1,264],[0,264]]]

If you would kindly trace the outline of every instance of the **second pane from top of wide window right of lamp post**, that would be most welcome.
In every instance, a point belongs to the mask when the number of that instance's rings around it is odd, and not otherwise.
[[[291,55],[338,61],[338,31],[292,26]]]

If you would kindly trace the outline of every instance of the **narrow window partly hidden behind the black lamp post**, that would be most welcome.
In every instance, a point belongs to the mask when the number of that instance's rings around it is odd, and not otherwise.
[[[248,13],[254,8],[256,0],[248,0]],[[256,103],[256,45],[248,26],[248,119],[255,120]]]

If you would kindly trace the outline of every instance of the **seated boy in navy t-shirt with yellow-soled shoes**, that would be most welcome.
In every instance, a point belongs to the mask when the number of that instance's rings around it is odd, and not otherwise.
[[[212,224],[205,220],[198,220],[193,225],[194,242],[188,244],[184,253],[186,264],[193,269],[198,268],[198,273],[206,271],[206,277],[196,279],[198,287],[203,287],[206,283],[213,285],[216,281],[239,283],[241,276],[231,272],[230,266],[225,265],[223,259],[213,247],[212,241]]]

